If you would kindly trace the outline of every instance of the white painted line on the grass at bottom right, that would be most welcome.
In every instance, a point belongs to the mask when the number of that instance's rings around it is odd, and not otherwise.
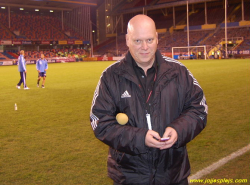
[[[226,164],[230,160],[232,160],[232,159],[246,153],[248,150],[250,150],[250,144],[248,144],[247,146],[245,146],[245,147],[239,149],[238,151],[230,154],[229,156],[220,159],[219,161],[211,164],[210,166],[204,168],[203,170],[198,171],[194,175],[190,176],[188,179],[200,179],[204,175],[207,175],[207,174],[211,173],[212,171],[214,171],[217,168],[221,167],[222,165]]]

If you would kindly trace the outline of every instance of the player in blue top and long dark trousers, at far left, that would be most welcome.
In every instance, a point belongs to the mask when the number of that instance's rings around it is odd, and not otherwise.
[[[21,84],[23,83],[24,89],[29,89],[26,85],[26,61],[24,59],[24,50],[20,51],[20,56],[18,57],[18,71],[20,72],[20,80],[16,86],[16,88],[21,89]]]

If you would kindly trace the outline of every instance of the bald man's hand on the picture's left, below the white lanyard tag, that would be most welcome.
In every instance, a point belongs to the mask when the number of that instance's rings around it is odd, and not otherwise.
[[[158,141],[159,139],[161,139],[161,137],[158,132],[148,130],[145,137],[145,144],[152,148],[162,148],[165,146],[165,142],[160,142]]]

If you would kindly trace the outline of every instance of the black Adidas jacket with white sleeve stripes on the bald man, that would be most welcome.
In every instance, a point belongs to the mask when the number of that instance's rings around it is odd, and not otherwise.
[[[91,126],[95,136],[109,146],[108,175],[117,183],[168,185],[187,178],[190,164],[186,144],[206,126],[206,99],[191,72],[158,50],[156,61],[157,78],[148,111],[152,130],[160,136],[166,127],[177,131],[178,141],[170,149],[145,145],[145,98],[129,52],[103,71],[94,93]],[[129,117],[126,125],[116,121],[120,112]]]

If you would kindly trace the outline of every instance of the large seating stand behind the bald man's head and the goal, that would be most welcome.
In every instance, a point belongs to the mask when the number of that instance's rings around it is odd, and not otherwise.
[[[152,3],[153,2],[153,3]],[[177,2],[175,0],[158,0],[158,1],[147,1],[148,4],[152,3],[155,5],[164,5],[167,3]],[[243,38],[243,42],[232,47],[231,49],[249,49],[249,26],[240,26],[240,21],[242,20],[242,1],[230,2],[227,7],[227,38],[234,40],[237,38]],[[145,3],[139,0],[127,1],[127,3],[121,8],[134,10],[136,7],[143,7]],[[250,3],[245,1],[244,3],[244,19],[249,21]],[[164,12],[165,11],[165,12]],[[166,8],[152,10],[152,12],[147,12],[147,14],[155,20],[156,27],[160,31],[159,33],[159,45],[158,48],[163,53],[171,52],[172,47],[182,47],[188,46],[187,42],[187,15],[186,6],[177,7],[175,10],[175,25],[173,26],[173,10],[171,8]],[[133,15],[131,15],[132,17]],[[126,25],[127,20],[124,21]],[[190,5],[189,10],[189,46],[199,46],[199,45],[211,45],[216,46],[221,44],[220,42],[225,38],[225,11],[224,4],[221,1],[215,1],[207,3],[207,21],[205,21],[205,9],[204,3]],[[236,22],[238,21],[238,22]],[[205,24],[207,23],[207,24]],[[166,30],[163,31],[162,30]],[[124,37],[124,38],[122,38]],[[123,43],[122,43],[123,42]],[[118,50],[118,51],[117,51]],[[125,36],[118,37],[118,44],[114,39],[112,43],[109,43],[95,52],[99,55],[104,53],[109,53],[109,55],[120,55],[126,52],[127,47],[125,43]]]

